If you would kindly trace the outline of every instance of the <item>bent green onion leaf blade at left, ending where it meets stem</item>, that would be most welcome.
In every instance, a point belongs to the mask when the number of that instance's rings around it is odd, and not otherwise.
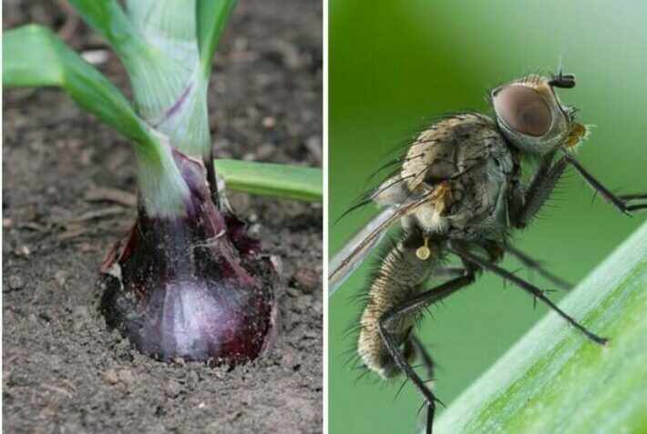
[[[79,106],[137,145],[157,138],[126,98],[98,70],[40,25],[3,34],[3,86],[61,87]]]

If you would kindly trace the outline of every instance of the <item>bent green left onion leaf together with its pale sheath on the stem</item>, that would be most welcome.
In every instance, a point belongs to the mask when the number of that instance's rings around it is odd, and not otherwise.
[[[150,215],[167,217],[185,210],[188,189],[173,162],[168,138],[149,128],[117,87],[45,27],[10,30],[3,42],[3,86],[63,89],[87,112],[132,140],[139,189]]]

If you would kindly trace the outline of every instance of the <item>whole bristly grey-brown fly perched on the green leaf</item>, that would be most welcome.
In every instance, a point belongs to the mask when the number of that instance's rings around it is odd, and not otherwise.
[[[511,233],[537,215],[567,167],[621,213],[647,209],[647,194],[616,196],[575,158],[573,147],[588,130],[575,122],[577,110],[562,104],[555,92],[574,86],[575,77],[561,72],[524,76],[490,92],[493,117],[464,113],[427,127],[396,160],[393,176],[360,204],[375,202],[384,211],[331,261],[332,294],[385,231],[400,223],[401,234],[385,248],[368,288],[357,352],[380,377],[404,373],[411,380],[425,400],[427,434],[439,401],[412,368],[418,358],[433,377],[433,361],[416,338],[416,322],[425,308],[474,282],[478,272],[505,278],[592,342],[607,342],[558,308],[546,291],[497,265],[509,253],[561,288],[569,287],[508,244]],[[521,166],[525,160],[536,162],[528,177]],[[462,266],[444,267],[450,255]],[[446,280],[427,288],[431,278]]]

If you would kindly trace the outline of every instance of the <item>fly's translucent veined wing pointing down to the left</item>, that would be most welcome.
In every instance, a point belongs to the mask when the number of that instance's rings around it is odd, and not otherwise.
[[[387,207],[378,214],[368,225],[360,230],[342,247],[330,260],[328,275],[328,297],[344,283],[355,268],[359,267],[366,256],[373,251],[386,230],[399,218],[411,214],[417,207],[429,201],[429,197],[421,197],[398,207]]]

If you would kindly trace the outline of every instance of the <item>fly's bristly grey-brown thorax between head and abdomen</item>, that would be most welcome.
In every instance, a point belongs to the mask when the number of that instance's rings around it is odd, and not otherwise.
[[[400,179],[408,195],[427,194],[417,226],[448,237],[502,237],[506,200],[518,172],[514,150],[487,116],[447,118],[410,147]]]

